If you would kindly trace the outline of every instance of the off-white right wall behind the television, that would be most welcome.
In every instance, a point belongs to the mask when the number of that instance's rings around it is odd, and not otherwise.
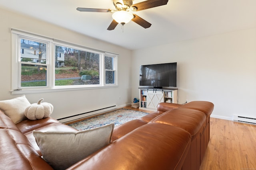
[[[256,117],[256,28],[192,39],[132,53],[132,96],[143,64],[178,63],[178,98],[206,100],[212,117]]]

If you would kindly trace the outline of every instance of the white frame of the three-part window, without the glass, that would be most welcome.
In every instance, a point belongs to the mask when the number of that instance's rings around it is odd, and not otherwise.
[[[36,63],[36,65],[47,66],[46,86],[21,87],[21,64],[28,64],[28,63],[21,61],[20,39],[29,39],[31,41],[36,41],[36,42],[41,42],[46,44],[46,64]],[[54,51],[55,51],[56,45],[99,54],[100,55],[100,70],[99,70],[100,84],[55,86],[55,66],[54,66],[55,53]],[[106,80],[105,78],[106,70],[104,67],[105,55],[108,57],[114,58],[114,68],[115,68],[114,84],[106,84],[105,82]],[[44,37],[41,35],[36,35],[33,33],[12,29],[12,84],[11,84],[11,90],[10,90],[12,94],[30,94],[30,93],[40,93],[40,92],[56,92],[56,91],[67,91],[67,90],[86,90],[86,89],[94,89],[94,88],[115,87],[115,86],[118,86],[117,64],[118,64],[117,54],[95,50],[95,49],[83,47],[81,45],[76,45],[76,44],[52,39],[49,37]]]

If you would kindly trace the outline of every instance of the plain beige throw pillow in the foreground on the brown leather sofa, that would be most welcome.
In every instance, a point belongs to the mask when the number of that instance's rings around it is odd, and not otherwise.
[[[43,159],[56,170],[66,169],[108,145],[114,123],[76,132],[33,131]]]

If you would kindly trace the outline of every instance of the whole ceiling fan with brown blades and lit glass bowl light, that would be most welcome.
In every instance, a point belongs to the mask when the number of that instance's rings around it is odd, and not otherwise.
[[[140,18],[136,14],[132,14],[132,12],[146,10],[148,8],[154,8],[157,6],[166,5],[168,0],[146,0],[143,2],[139,2],[137,4],[132,4],[132,0],[113,0],[113,4],[116,10],[111,9],[97,9],[97,8],[76,8],[76,10],[80,12],[108,12],[113,13],[112,18],[113,21],[110,23],[108,30],[115,29],[116,25],[120,23],[124,25],[128,23],[130,20],[134,21],[138,25],[148,28],[151,26],[151,23]]]

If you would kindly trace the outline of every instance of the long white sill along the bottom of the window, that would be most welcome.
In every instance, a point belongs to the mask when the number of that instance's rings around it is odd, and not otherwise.
[[[50,93],[50,92],[66,92],[75,90],[92,90],[101,88],[116,88],[118,85],[98,86],[98,87],[70,87],[70,88],[52,88],[52,89],[30,89],[30,90],[11,90],[11,94],[34,94],[34,93]]]

